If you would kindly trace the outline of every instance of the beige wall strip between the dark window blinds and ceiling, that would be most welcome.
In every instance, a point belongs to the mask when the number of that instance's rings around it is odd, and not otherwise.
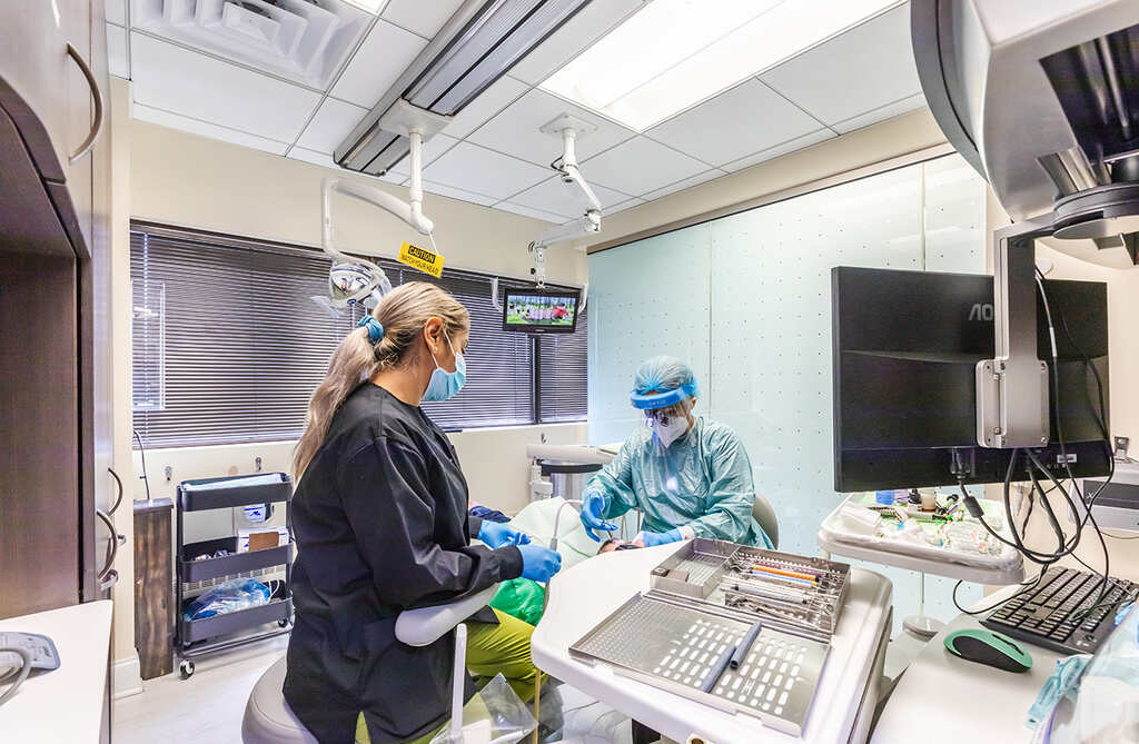
[[[320,245],[320,183],[339,175],[407,198],[407,189],[378,179],[294,161],[260,150],[131,122],[131,216],[232,235]],[[371,205],[334,197],[338,247],[395,257],[404,240],[423,236]],[[526,246],[549,227],[540,220],[427,194],[424,212],[435,222],[445,265],[530,276]],[[547,254],[551,281],[582,283],[582,254],[570,247]]]

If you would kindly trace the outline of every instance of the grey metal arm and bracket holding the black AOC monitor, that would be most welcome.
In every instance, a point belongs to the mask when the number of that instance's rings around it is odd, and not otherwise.
[[[993,232],[997,355],[977,362],[977,443],[1013,449],[1048,444],[1048,365],[1036,355],[1035,242],[1051,215]]]

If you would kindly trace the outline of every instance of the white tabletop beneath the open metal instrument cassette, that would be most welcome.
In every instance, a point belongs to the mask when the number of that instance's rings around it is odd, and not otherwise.
[[[890,616],[892,586],[870,571],[851,570],[846,605],[801,739],[767,728],[751,716],[727,713],[618,674],[608,664],[592,665],[570,656],[570,646],[585,632],[630,597],[647,591],[649,571],[681,545],[608,553],[555,577],[549,606],[531,639],[538,668],[679,742],[697,734],[716,744],[845,744]]]

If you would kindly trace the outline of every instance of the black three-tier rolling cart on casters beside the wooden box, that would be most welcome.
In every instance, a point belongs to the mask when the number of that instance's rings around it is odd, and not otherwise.
[[[293,482],[285,473],[183,481],[178,485],[175,504],[175,621],[174,652],[180,659],[182,679],[194,673],[194,659],[235,648],[289,632],[293,621],[293,530],[289,515]],[[189,512],[232,509],[256,505],[285,507],[285,542],[272,548],[240,551],[240,535],[232,534],[200,542],[185,542],[183,521]],[[200,556],[212,556],[200,558]],[[251,577],[253,572],[285,567],[285,581],[269,602],[244,610],[187,620],[185,615],[189,584],[214,579]],[[278,629],[253,631],[273,623]],[[241,631],[251,631],[239,635]]]

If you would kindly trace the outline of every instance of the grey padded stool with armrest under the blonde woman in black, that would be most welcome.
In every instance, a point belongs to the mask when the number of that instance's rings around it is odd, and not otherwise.
[[[395,638],[409,646],[427,646],[439,640],[444,633],[456,628],[464,620],[485,607],[494,597],[498,584],[484,589],[466,599],[441,605],[439,607],[421,607],[405,610],[395,619]],[[459,722],[461,739],[462,725],[462,674],[466,661],[466,627],[458,633],[457,645],[464,653],[456,654],[457,680],[452,696],[452,721]],[[286,657],[278,659],[265,670],[249,693],[245,705],[245,718],[241,721],[241,742],[244,744],[319,744],[309,733],[285,701],[281,688],[285,685]],[[456,716],[454,711],[459,711]],[[452,729],[452,735],[454,730]],[[456,741],[456,739],[452,739]]]

